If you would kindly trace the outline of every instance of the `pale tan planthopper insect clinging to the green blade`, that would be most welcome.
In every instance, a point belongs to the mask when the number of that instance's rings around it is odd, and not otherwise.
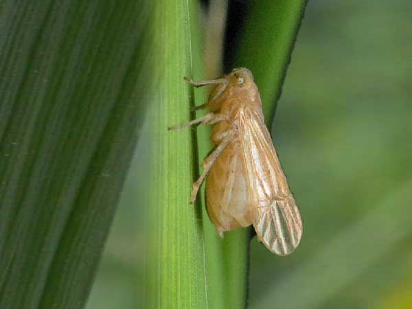
[[[203,173],[192,187],[192,203],[207,176],[206,207],[220,236],[253,224],[258,240],[273,253],[288,255],[299,244],[302,220],[264,125],[262,102],[251,71],[233,69],[216,80],[209,101],[195,109],[209,113],[187,124],[214,124],[210,139],[216,148],[203,161]]]

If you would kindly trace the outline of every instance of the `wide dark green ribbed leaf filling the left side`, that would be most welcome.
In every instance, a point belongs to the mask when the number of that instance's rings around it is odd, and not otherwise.
[[[1,3],[1,308],[84,306],[151,87],[151,10]]]

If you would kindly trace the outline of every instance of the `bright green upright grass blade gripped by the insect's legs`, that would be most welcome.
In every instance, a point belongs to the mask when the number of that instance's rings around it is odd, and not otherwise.
[[[190,35],[198,23],[198,16],[190,15],[192,5],[196,2],[163,0],[155,10],[157,92],[147,115],[145,147],[150,184],[146,308],[208,308],[201,209],[189,203],[198,165],[194,131],[167,130],[192,117],[193,89],[183,80],[192,76],[192,51],[198,50]]]

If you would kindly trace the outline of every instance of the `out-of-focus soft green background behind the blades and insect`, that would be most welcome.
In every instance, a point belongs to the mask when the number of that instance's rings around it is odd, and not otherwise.
[[[308,2],[272,130],[304,237],[286,258],[253,238],[249,308],[412,308],[411,16],[411,1]],[[141,181],[128,176],[88,309],[144,308]]]

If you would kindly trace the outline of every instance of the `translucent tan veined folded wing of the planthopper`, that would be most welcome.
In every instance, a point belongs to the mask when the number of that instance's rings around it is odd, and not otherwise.
[[[258,239],[273,253],[287,255],[299,244],[302,220],[262,116],[244,108],[239,130],[249,205]]]

